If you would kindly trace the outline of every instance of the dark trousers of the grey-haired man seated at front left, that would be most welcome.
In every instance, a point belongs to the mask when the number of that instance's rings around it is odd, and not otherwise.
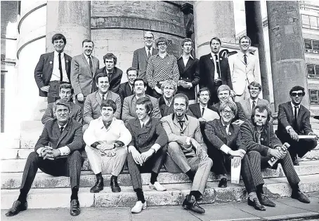
[[[23,171],[22,183],[20,189],[27,194],[32,186],[32,182],[37,174],[38,168],[48,175],[55,177],[70,177],[71,189],[79,189],[79,178],[82,168],[82,156],[78,150],[72,152],[67,157],[49,160],[40,157],[37,152],[32,152],[27,157],[25,170]]]

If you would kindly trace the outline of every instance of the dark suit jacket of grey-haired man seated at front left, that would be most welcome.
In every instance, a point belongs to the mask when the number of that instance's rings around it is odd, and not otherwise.
[[[82,149],[84,145],[82,124],[69,118],[67,126],[63,132],[60,133],[57,119],[46,122],[42,134],[34,147],[34,151],[37,152],[37,149],[48,146],[49,144],[53,149],[67,146],[71,152]]]

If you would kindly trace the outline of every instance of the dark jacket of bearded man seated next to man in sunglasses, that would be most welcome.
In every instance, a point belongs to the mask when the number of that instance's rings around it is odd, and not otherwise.
[[[256,151],[261,156],[268,156],[268,149],[275,147],[281,147],[282,143],[273,132],[273,124],[271,122],[266,123],[261,131],[261,144],[258,143],[256,138],[256,129],[251,120],[246,120],[240,126],[242,133],[242,141],[247,147],[247,152]]]

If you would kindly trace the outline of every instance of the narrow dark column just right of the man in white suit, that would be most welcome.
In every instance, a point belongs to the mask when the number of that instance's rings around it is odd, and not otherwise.
[[[263,98],[270,101],[260,1],[245,1],[245,13],[247,36],[249,36],[249,38],[252,40],[252,46],[257,47],[259,51],[259,65]]]

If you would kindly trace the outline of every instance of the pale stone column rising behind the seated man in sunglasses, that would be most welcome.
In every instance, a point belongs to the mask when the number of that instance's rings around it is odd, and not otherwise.
[[[275,110],[289,99],[293,86],[303,86],[303,105],[309,107],[304,39],[298,1],[267,1],[271,72]]]

